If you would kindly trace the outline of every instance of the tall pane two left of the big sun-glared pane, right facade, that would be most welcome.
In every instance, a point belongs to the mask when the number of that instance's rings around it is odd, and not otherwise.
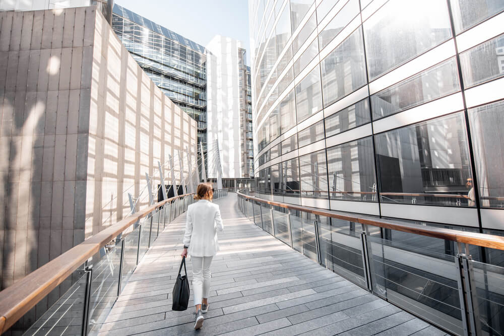
[[[322,109],[320,69],[317,65],[296,85],[297,122],[301,122]],[[283,118],[282,118],[283,120]]]

